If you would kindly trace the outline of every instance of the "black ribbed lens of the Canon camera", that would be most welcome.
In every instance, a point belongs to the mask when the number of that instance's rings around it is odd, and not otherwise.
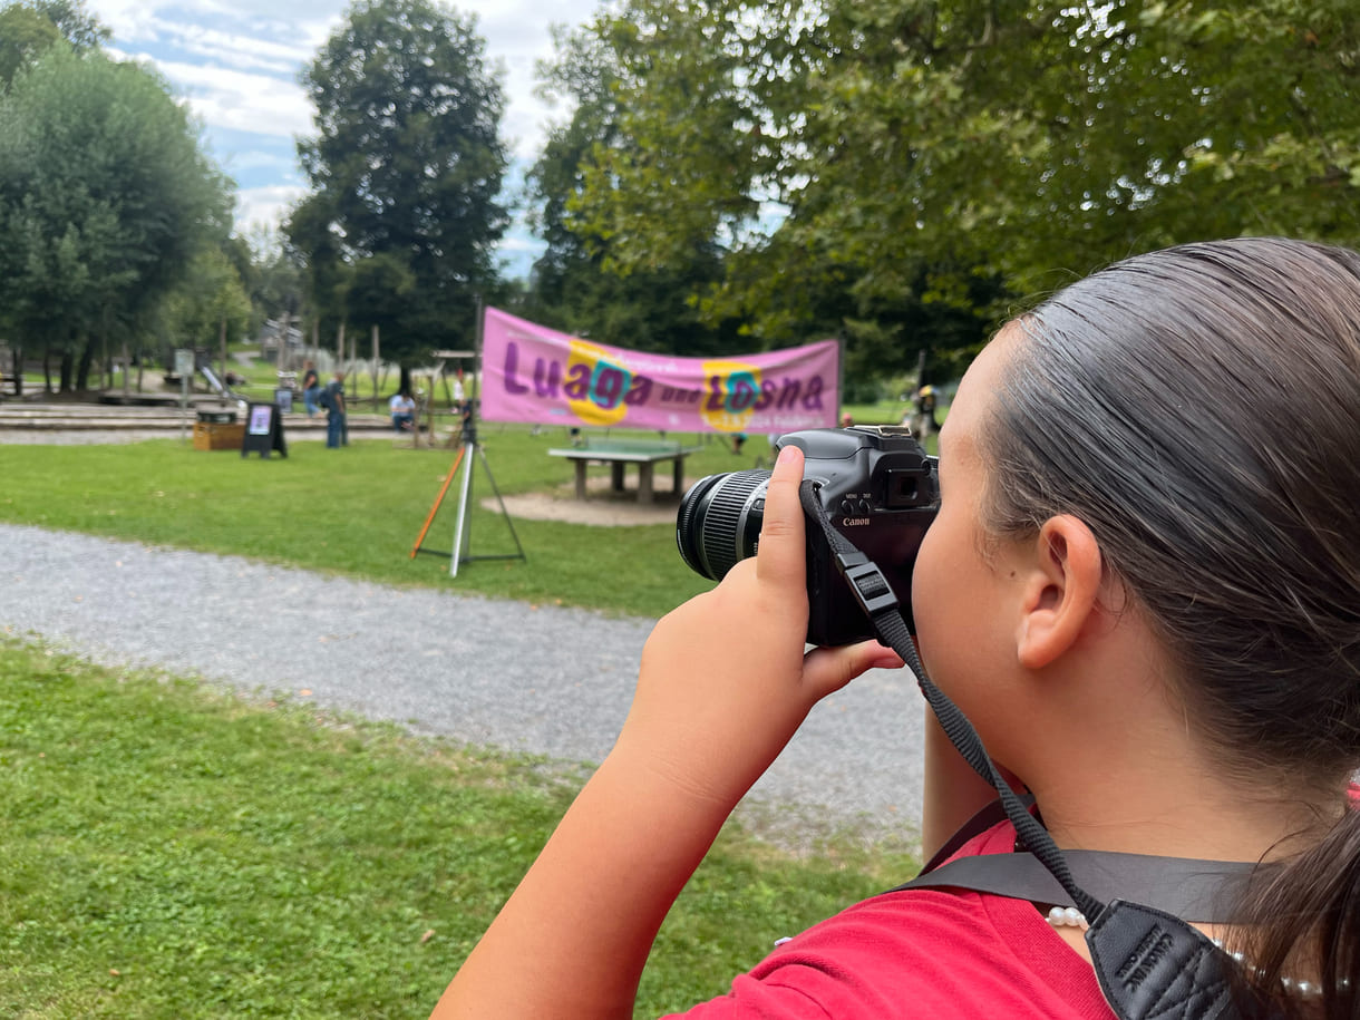
[[[751,556],[764,520],[770,472],[751,469],[699,479],[676,514],[676,545],[690,568],[713,581]]]

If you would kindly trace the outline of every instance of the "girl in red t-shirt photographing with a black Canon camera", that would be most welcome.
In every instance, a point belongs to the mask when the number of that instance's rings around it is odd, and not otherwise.
[[[1149,394],[1172,428],[1146,427]],[[1178,1008],[1140,1015],[1209,1016],[1187,1004],[1227,979],[1224,1020],[1360,1017],[1360,253],[1239,238],[1096,272],[996,335],[940,441],[910,586],[925,670],[1058,847],[1247,869],[1220,923],[1186,919],[1206,949]],[[874,641],[805,651],[802,473],[785,447],[756,555],[657,623],[617,741],[434,1017],[631,1020],[732,809],[817,702],[900,664]],[[926,858],[996,797],[942,734]],[[1016,839],[1000,821],[953,853]],[[1108,1020],[1083,936],[1106,914],[1054,906],[885,892],[684,1016]],[[1118,976],[1156,967],[1166,932]]]

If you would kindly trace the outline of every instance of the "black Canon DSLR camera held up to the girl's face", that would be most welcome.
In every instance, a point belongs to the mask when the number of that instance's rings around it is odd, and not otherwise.
[[[804,479],[831,525],[870,560],[911,623],[911,568],[926,528],[940,510],[936,458],[910,428],[854,426],[789,432],[775,449],[797,446]],[[676,544],[691,570],[721,581],[737,560],[753,556],[764,520],[768,471],[734,471],[699,479],[680,502]],[[849,645],[874,636],[873,624],[835,564],[821,528],[808,521],[808,642]]]

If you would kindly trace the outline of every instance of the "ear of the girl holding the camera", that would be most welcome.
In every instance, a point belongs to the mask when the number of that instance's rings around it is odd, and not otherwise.
[[[1098,608],[1100,547],[1085,522],[1050,517],[1032,540],[1020,590],[1020,665],[1042,669],[1068,651]]]

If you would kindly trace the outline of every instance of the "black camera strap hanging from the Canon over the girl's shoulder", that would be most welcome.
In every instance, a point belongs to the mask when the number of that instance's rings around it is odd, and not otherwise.
[[[802,481],[798,496],[804,515],[821,529],[836,568],[873,622],[874,631],[910,666],[949,741],[997,790],[1019,845],[1034,855],[1088,919],[1085,940],[1091,962],[1106,1002],[1115,1015],[1122,1020],[1239,1017],[1231,994],[1231,975],[1236,964],[1202,932],[1152,906],[1122,898],[1102,902],[1077,883],[1053,836],[997,771],[972,724],[926,676],[892,586],[877,564],[831,525],[816,491],[816,483]]]

